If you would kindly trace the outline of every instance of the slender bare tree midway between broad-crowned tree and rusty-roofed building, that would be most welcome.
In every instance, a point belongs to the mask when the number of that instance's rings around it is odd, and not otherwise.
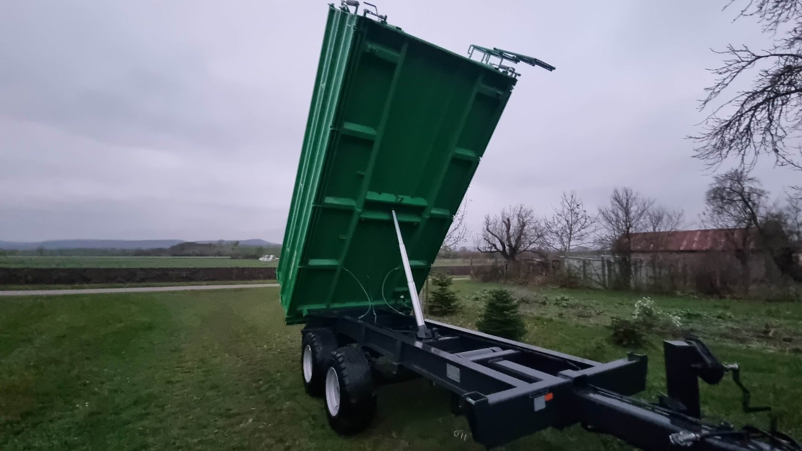
[[[577,246],[593,243],[596,216],[588,214],[576,192],[563,191],[560,206],[553,207],[553,211],[551,219],[544,222],[550,248],[565,256]]]

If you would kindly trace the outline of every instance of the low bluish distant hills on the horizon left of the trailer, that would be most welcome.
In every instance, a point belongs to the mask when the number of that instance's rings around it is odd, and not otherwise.
[[[217,243],[219,240],[196,241],[196,243]],[[223,240],[225,244],[233,240]],[[47,241],[0,241],[0,249],[9,251],[33,251],[44,248],[54,249],[156,249],[169,248],[184,240],[47,240]],[[265,240],[240,240],[240,246],[278,246]]]

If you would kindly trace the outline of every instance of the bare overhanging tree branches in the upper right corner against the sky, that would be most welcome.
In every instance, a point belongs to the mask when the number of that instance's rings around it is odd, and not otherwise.
[[[691,136],[699,143],[695,157],[716,167],[735,156],[748,170],[759,155],[768,154],[774,155],[776,166],[802,171],[802,151],[796,145],[802,124],[802,2],[749,0],[736,18],[740,17],[758,18],[767,32],[776,33],[784,24],[791,28],[770,50],[730,45],[716,52],[727,59],[711,70],[717,79],[706,88],[700,110],[731,91],[736,79],[751,77],[752,83],[715,108],[703,121],[703,132]]]

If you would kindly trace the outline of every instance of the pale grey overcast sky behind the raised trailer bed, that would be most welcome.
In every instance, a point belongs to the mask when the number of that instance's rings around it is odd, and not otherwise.
[[[745,0],[744,0],[745,1]],[[722,1],[379,2],[388,22],[464,53],[531,54],[480,164],[469,221],[509,203],[595,207],[626,185],[703,207],[691,159],[711,48],[765,46]],[[4,2],[0,240],[280,242],[325,1]],[[767,162],[768,163],[768,162]],[[800,173],[761,165],[776,195]]]

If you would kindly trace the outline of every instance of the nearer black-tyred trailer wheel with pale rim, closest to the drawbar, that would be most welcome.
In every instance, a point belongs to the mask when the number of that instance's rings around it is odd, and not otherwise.
[[[326,417],[342,435],[363,431],[376,415],[376,389],[371,362],[362,349],[343,346],[331,356],[326,370]]]

